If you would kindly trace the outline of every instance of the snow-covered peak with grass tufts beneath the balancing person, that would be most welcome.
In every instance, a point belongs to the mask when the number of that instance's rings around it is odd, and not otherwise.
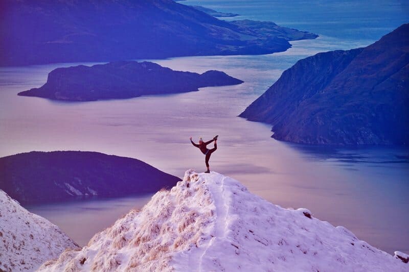
[[[40,268],[64,269],[408,271],[409,264],[307,209],[283,209],[229,177],[189,170],[142,211],[130,211],[81,251],[66,251]]]

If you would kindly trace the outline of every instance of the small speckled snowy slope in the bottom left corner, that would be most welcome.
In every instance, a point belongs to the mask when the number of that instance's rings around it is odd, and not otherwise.
[[[0,271],[35,270],[78,245],[47,219],[0,190]]]

